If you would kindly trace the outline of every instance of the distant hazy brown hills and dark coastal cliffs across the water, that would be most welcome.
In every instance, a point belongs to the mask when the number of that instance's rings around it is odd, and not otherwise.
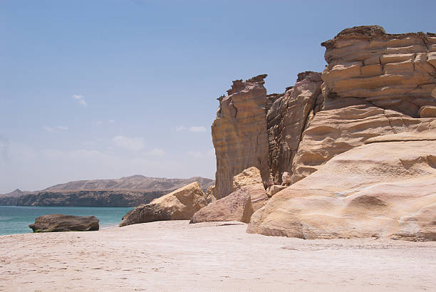
[[[175,189],[198,182],[205,191],[214,180],[204,177],[167,179],[133,175],[120,179],[91,179],[56,184],[41,191],[20,189],[0,194],[0,205],[57,207],[135,207]]]

